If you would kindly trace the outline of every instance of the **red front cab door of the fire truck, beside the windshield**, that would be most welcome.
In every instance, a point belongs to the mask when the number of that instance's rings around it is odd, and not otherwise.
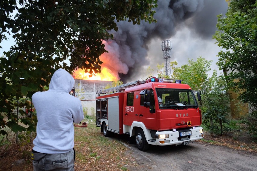
[[[154,109],[153,113],[150,113],[149,107],[144,107],[144,95],[140,97],[140,106],[139,106],[139,122],[144,123],[147,129],[156,130],[156,111],[155,111],[155,100],[154,100],[154,92],[150,90],[150,106]]]

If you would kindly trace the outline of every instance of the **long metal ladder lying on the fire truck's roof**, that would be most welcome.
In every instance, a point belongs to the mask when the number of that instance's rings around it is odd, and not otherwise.
[[[96,94],[100,95],[100,94],[106,94],[106,93],[121,92],[121,91],[124,91],[128,87],[132,87],[132,86],[144,84],[144,83],[145,83],[145,81],[139,81],[139,80],[133,81],[133,82],[128,82],[126,84],[118,85],[116,87],[111,87],[109,89],[97,91]]]

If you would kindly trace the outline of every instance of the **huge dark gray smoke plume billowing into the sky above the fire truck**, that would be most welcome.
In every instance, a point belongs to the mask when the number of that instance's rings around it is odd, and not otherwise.
[[[164,62],[161,41],[166,39],[173,45],[170,61],[185,64],[188,58],[199,57],[196,55],[200,51],[201,56],[216,53],[217,47],[208,43],[214,45],[217,15],[225,14],[227,8],[225,0],[160,0],[154,9],[157,23],[117,23],[119,31],[114,33],[114,39],[105,42],[109,53],[101,58],[102,66],[119,75],[123,82],[145,79],[148,66],[155,69],[157,63]]]

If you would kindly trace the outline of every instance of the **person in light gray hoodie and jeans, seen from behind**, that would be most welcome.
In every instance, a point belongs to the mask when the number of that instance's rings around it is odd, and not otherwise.
[[[36,138],[31,158],[34,170],[74,170],[74,126],[84,119],[81,101],[69,94],[75,80],[58,69],[49,90],[36,92],[32,102],[36,109]]]

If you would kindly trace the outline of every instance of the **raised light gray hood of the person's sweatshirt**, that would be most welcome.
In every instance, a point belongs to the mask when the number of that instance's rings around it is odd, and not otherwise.
[[[52,76],[49,90],[69,93],[75,83],[74,78],[64,69],[58,69]]]

